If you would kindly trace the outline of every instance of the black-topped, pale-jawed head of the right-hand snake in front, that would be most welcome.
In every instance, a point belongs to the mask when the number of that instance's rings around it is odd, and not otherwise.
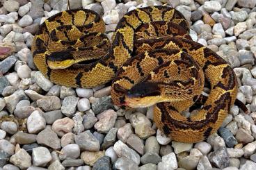
[[[157,83],[142,82],[134,85],[125,96],[127,105],[131,108],[147,108],[163,101]]]

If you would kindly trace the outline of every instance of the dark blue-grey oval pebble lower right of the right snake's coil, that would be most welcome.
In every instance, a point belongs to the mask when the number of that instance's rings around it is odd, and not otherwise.
[[[227,147],[232,148],[234,145],[238,144],[237,139],[234,138],[233,134],[228,128],[219,128],[218,132],[220,133],[221,137],[223,137],[225,144]]]

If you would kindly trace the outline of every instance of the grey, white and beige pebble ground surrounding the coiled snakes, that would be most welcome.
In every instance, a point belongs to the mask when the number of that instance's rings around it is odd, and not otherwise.
[[[70,0],[102,15],[107,31],[129,10],[168,3],[190,21],[193,40],[234,68],[249,114],[234,105],[218,133],[196,144],[165,137],[152,108],[118,109],[110,87],[67,88],[42,76],[33,35],[66,3],[0,1],[0,169],[256,169],[256,0]],[[15,53],[4,55],[6,44]]]

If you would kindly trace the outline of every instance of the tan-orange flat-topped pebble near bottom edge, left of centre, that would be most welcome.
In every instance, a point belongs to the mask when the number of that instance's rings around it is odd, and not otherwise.
[[[90,166],[93,166],[93,164],[95,164],[95,162],[102,156],[104,156],[104,151],[97,151],[97,152],[83,151],[80,155],[84,163]]]

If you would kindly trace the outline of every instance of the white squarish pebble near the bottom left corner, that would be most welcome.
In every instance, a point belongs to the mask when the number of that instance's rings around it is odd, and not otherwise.
[[[51,153],[45,147],[33,148],[32,160],[34,166],[45,167],[51,161]]]

